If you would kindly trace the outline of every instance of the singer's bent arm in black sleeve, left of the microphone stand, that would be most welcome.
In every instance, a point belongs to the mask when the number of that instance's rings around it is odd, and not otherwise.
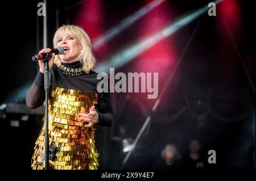
[[[38,71],[38,75],[36,75],[36,78],[32,83],[32,86],[27,92],[26,104],[27,104],[27,107],[31,109],[35,109],[42,106],[44,100],[45,100],[44,74]]]

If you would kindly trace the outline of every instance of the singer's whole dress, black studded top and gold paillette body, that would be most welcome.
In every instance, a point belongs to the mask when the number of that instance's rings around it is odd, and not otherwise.
[[[74,63],[74,64],[80,64]],[[76,74],[77,73],[77,74]],[[78,116],[80,112],[89,113],[90,107],[97,106],[101,99],[98,98],[96,92],[95,79],[97,74],[95,72],[85,75],[80,73],[80,69],[66,68],[65,66],[57,67],[53,64],[51,69],[51,88],[49,92],[49,145],[56,148],[56,154],[53,159],[49,159],[49,169],[69,170],[69,169],[98,169],[99,153],[95,147],[94,131],[95,128],[86,128],[86,122],[80,120]],[[40,76],[39,76],[40,75]],[[73,76],[72,75],[76,75]],[[43,74],[38,74],[40,78],[36,78],[34,83],[36,85],[43,85]],[[82,89],[90,89],[93,91],[81,91]],[[84,87],[83,87],[84,86]],[[64,88],[66,87],[66,88]],[[71,87],[82,87],[79,89],[71,89]],[[43,88],[42,88],[43,89]],[[104,95],[102,95],[104,96]],[[107,98],[106,94],[106,98]],[[98,112],[100,119],[106,122],[112,121],[113,118],[108,119],[109,112],[112,112],[111,104],[102,102],[103,108],[110,107],[110,111],[103,117]],[[100,104],[99,104],[100,105]],[[104,110],[103,109],[103,110]],[[100,118],[101,117],[101,118]],[[110,114],[112,117],[112,113]],[[109,123],[110,123],[109,121]],[[106,123],[105,123],[106,124]],[[110,125],[110,124],[109,124]],[[107,126],[109,126],[107,125]],[[45,148],[45,125],[35,142],[34,154],[32,155],[32,169],[42,170],[45,167],[44,163],[44,148]]]

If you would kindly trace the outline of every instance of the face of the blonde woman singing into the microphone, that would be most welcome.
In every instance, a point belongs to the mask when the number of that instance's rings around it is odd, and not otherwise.
[[[64,47],[65,51],[60,54],[60,60],[64,63],[71,63],[79,60],[82,45],[75,36],[65,35],[63,37],[58,37],[57,46]]]

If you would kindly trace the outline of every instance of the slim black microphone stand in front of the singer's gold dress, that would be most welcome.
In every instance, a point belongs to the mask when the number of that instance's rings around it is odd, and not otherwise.
[[[46,56],[47,57],[47,56]],[[46,124],[46,135],[45,135],[45,150],[44,150],[44,163],[45,170],[49,170],[49,137],[48,137],[48,100],[49,100],[49,58],[44,60],[44,91],[46,92],[46,110],[45,110],[45,124]]]

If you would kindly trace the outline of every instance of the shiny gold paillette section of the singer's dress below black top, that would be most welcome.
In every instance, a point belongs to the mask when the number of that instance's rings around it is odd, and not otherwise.
[[[80,112],[88,113],[97,104],[97,94],[63,89],[51,85],[49,94],[49,145],[56,148],[55,157],[49,159],[49,169],[94,170],[98,167],[98,151],[94,145],[94,128],[85,128]],[[35,143],[32,169],[42,170],[45,148],[45,125]]]

